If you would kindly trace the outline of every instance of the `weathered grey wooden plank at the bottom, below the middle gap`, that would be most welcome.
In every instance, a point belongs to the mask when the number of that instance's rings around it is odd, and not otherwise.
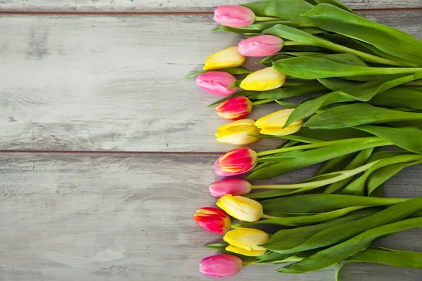
[[[203,244],[221,235],[193,223],[215,202],[215,156],[0,154],[0,280],[207,280]],[[283,176],[294,182],[315,169]],[[390,196],[421,196],[421,166],[387,184]],[[421,230],[379,244],[422,251]],[[279,280],[277,266],[253,266],[226,280]],[[334,280],[335,268],[283,280]],[[345,268],[344,280],[416,281],[421,270]],[[343,279],[342,279],[343,280]]]

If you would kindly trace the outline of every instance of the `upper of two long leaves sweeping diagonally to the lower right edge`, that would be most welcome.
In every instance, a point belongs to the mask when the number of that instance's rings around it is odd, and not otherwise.
[[[383,199],[378,197],[367,198],[377,198],[378,200]],[[288,254],[291,252],[307,251],[309,249],[317,249],[338,244],[354,237],[355,235],[371,230],[372,228],[378,228],[380,226],[388,225],[388,223],[402,221],[404,218],[407,218],[421,209],[422,197],[407,200],[406,202],[401,202],[389,207],[388,209],[379,211],[376,214],[371,214],[371,216],[366,216],[364,218],[359,218],[354,221],[349,221],[338,226],[331,226],[330,228],[321,230],[319,233],[316,233],[306,242],[298,245],[297,247],[279,252],[281,254]]]

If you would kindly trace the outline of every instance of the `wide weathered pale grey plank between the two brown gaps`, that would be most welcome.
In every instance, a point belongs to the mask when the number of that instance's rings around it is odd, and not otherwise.
[[[366,15],[422,38],[422,13]],[[217,97],[183,78],[241,38],[211,29],[211,15],[0,16],[0,149],[234,148],[213,136]]]

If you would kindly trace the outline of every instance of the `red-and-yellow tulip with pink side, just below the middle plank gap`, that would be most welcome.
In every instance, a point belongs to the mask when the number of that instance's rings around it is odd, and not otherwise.
[[[215,161],[215,174],[236,176],[252,170],[257,161],[257,153],[249,148],[235,148],[224,153]]]

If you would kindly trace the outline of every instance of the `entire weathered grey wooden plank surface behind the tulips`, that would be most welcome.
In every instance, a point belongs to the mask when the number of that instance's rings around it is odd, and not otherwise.
[[[212,279],[198,263],[215,253],[203,244],[221,235],[191,218],[215,206],[212,164],[234,146],[213,136],[225,123],[206,107],[216,97],[182,77],[240,39],[210,33],[212,14],[192,12],[238,3],[245,2],[0,0],[0,14],[10,12],[0,15],[0,281]],[[420,0],[345,3],[406,8],[362,12],[422,39]],[[110,15],[77,14],[84,11]],[[278,108],[255,107],[252,118]],[[422,196],[421,171],[410,167],[388,181],[388,196]],[[421,239],[422,230],[410,230],[378,244],[422,251]],[[276,268],[244,268],[224,280],[331,281],[336,269]],[[340,277],[421,281],[422,271],[351,264]]]

